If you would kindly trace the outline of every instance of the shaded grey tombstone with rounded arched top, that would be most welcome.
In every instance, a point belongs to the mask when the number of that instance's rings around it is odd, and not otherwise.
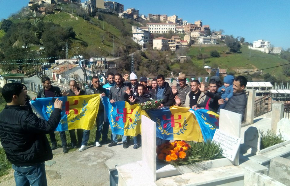
[[[244,134],[244,147],[249,153],[257,154],[260,151],[261,135],[256,127],[249,127]]]

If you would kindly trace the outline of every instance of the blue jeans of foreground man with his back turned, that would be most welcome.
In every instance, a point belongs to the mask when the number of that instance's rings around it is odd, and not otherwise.
[[[47,186],[44,162],[23,167],[12,164],[12,169],[16,186]]]

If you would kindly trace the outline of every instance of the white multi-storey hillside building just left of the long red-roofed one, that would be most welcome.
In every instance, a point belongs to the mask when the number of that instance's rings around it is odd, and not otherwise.
[[[148,27],[135,27],[132,26],[133,41],[138,43],[142,48],[147,48],[150,38],[150,32]]]

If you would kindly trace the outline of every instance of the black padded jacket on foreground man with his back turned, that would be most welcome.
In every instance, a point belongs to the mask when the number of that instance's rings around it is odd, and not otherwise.
[[[52,159],[45,134],[60,122],[60,109],[54,109],[48,121],[38,118],[23,106],[5,106],[0,113],[0,139],[9,162],[32,166]]]

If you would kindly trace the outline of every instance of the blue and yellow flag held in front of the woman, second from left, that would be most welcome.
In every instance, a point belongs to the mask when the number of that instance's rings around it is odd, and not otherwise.
[[[137,136],[140,134],[141,107],[125,101],[110,103],[108,97],[102,97],[105,111],[113,134]]]

